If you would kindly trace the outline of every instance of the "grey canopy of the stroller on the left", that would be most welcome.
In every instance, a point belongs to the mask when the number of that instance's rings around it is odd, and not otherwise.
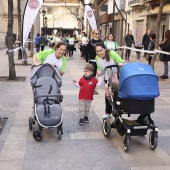
[[[58,87],[61,87],[62,80],[60,76],[60,72],[57,67],[53,67],[50,64],[46,63],[44,65],[40,65],[38,67],[32,67],[31,69],[31,79],[30,84],[34,86],[37,79],[40,77],[51,77],[57,82]]]

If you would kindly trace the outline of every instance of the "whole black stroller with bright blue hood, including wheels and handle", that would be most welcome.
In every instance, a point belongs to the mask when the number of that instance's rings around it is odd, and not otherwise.
[[[110,76],[112,77],[112,67]],[[108,72],[106,72],[108,74]],[[111,128],[117,129],[117,132],[123,136],[125,152],[130,149],[130,136],[149,135],[149,145],[152,150],[157,148],[158,127],[155,126],[150,114],[155,111],[155,98],[160,95],[158,86],[158,77],[148,64],[134,62],[125,64],[120,70],[120,81],[118,84],[108,79],[110,92],[110,104],[112,105],[112,114],[103,118],[103,134],[108,138],[111,134]],[[122,118],[123,114],[130,117],[131,114],[139,114],[137,120],[128,120]]]

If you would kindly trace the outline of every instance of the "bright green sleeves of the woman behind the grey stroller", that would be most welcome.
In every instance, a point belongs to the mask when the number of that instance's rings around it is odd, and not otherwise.
[[[44,64],[45,59],[52,53],[54,53],[54,49],[47,49],[47,50],[41,51],[36,54],[37,60],[41,61],[41,64]],[[61,60],[62,60],[62,66],[60,70],[62,72],[65,72],[66,71],[66,57],[63,55],[61,57]]]

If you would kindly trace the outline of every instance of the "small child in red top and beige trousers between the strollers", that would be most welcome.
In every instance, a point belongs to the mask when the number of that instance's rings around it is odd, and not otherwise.
[[[102,79],[98,80],[93,76],[94,67],[92,64],[87,64],[84,67],[84,75],[80,78],[77,83],[76,80],[73,80],[73,83],[76,87],[80,88],[79,91],[79,111],[81,118],[79,120],[79,125],[83,126],[84,123],[89,123],[88,114],[93,100],[94,89],[96,85],[100,85]]]

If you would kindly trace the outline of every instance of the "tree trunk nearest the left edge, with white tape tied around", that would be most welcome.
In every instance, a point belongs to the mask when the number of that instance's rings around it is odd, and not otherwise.
[[[16,71],[14,64],[14,51],[13,51],[13,0],[8,0],[8,62],[9,62],[9,79],[16,79]]]

